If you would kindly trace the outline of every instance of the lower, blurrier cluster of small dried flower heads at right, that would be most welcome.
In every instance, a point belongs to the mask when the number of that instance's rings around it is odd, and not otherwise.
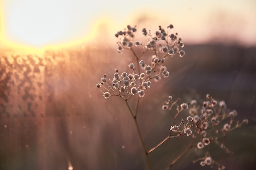
[[[191,135],[193,140],[196,141],[196,150],[203,150],[203,148],[209,146],[214,141],[214,143],[219,144],[220,148],[225,150],[227,154],[231,155],[233,152],[223,144],[223,141],[220,142],[219,139],[226,136],[227,133],[234,128],[238,128],[242,124],[248,124],[248,120],[245,119],[240,123],[237,121],[236,125],[232,127],[234,117],[238,115],[236,110],[231,110],[229,113],[226,113],[225,109],[227,106],[225,101],[217,102],[209,94],[206,95],[206,99],[207,100],[204,101],[201,106],[197,106],[196,100],[191,100],[189,103],[182,103],[179,106],[177,102],[180,99],[172,101],[172,97],[169,96],[168,100],[162,105],[162,110],[171,111],[172,107],[176,106],[177,114],[173,116],[174,119],[180,112],[182,112],[182,110],[188,109],[189,113],[189,116],[186,118],[186,124],[184,124],[184,121],[182,120],[180,125],[171,126],[170,130],[171,132],[177,133],[178,136],[181,136],[183,132],[187,136]],[[227,121],[227,123],[224,123],[224,121]],[[190,125],[189,122],[191,122]],[[182,124],[184,124],[184,127],[181,127]],[[213,129],[216,133],[213,133]],[[213,159],[209,157],[209,152],[206,152],[205,157],[199,158],[196,161],[199,160],[201,160],[201,166],[212,166],[215,163],[218,166],[218,169],[225,168],[225,166],[213,161]]]

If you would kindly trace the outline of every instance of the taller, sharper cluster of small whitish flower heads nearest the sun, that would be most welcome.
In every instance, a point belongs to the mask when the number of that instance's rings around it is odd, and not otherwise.
[[[172,28],[172,25],[167,27],[168,31]],[[128,25],[127,29],[124,29],[124,31],[118,31],[115,34],[118,38],[117,51],[123,52],[124,49],[131,50],[137,60],[136,63],[139,65],[135,66],[134,63],[130,63],[128,65],[132,70],[130,73],[124,72],[119,75],[117,71],[112,80],[107,80],[106,75],[103,75],[101,83],[96,84],[96,86],[100,89],[103,87],[106,90],[104,92],[101,91],[106,99],[112,95],[120,97],[128,95],[129,97],[129,95],[138,94],[139,97],[144,97],[145,90],[150,88],[151,79],[154,79],[155,82],[157,82],[161,77],[169,77],[170,72],[167,71],[166,66],[164,66],[166,57],[173,56],[175,53],[179,53],[180,57],[185,54],[184,51],[179,50],[184,46],[184,44],[181,42],[181,38],[178,37],[177,33],[169,34],[168,31],[165,31],[161,26],[159,26],[159,31],[156,31],[153,36],[150,31],[148,32],[144,28],[142,29],[142,32],[147,37],[148,41],[146,43],[141,43],[139,41],[134,42],[136,31],[136,26],[132,27]],[[142,53],[143,55],[137,55],[134,48],[141,47],[144,49]],[[159,53],[157,49],[161,52]],[[146,51],[153,51],[155,54],[151,55],[150,58],[143,60],[141,57],[144,56]],[[135,71],[135,69],[137,70]]]

